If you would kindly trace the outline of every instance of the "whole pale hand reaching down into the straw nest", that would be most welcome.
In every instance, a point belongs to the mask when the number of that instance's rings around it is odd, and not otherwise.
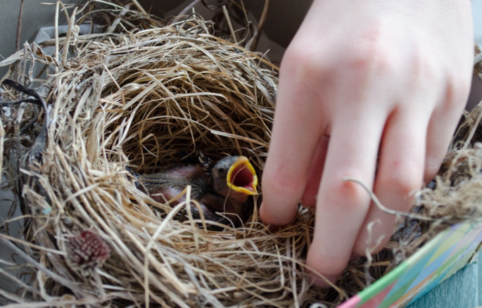
[[[394,217],[345,177],[407,212],[435,176],[469,94],[472,44],[468,0],[313,2],[281,62],[260,208],[284,226],[299,202],[316,207],[313,277],[336,281],[393,233]]]

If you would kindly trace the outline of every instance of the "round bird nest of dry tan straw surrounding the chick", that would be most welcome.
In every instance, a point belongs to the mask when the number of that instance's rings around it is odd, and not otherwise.
[[[113,4],[101,12],[115,17],[110,31],[77,35],[74,13],[64,38],[27,45],[3,63],[24,68],[30,63],[32,70],[47,65],[51,72],[37,92],[4,82],[3,101],[22,97],[16,89],[30,97],[23,101],[34,103],[18,108],[25,119],[16,124],[25,126],[22,146],[16,128],[0,140],[7,153],[12,148],[27,153],[26,180],[20,180],[24,239],[0,239],[27,260],[25,270],[34,277],[30,285],[13,277],[23,286],[23,297],[3,293],[9,300],[122,307],[334,306],[395,267],[430,234],[478,210],[474,201],[451,221],[406,224],[405,229],[417,230],[417,238],[402,228],[405,236],[392,241],[389,251],[350,264],[336,288],[312,288],[303,262],[312,210],[300,207],[292,224],[271,233],[260,223],[258,195],[242,226],[210,222],[192,216],[198,203],[190,201],[189,186],[182,192],[186,201],[172,207],[139,189],[126,168],[151,174],[201,150],[214,160],[245,155],[260,177],[277,68],[241,44],[213,36],[213,24],[197,15],[163,27],[155,18]],[[144,30],[132,25],[139,16]],[[115,23],[132,27],[116,33]],[[50,47],[56,56],[47,56]],[[37,81],[32,70],[19,78],[30,88]],[[9,76],[18,71],[12,65]],[[5,115],[2,120],[8,128]],[[480,170],[481,151],[462,150],[451,154],[457,172],[474,170],[474,164]],[[464,160],[470,150],[476,154]],[[470,166],[461,167],[464,161]],[[436,217],[434,209],[447,209],[443,200],[462,182],[440,177],[438,191],[421,191],[417,217],[421,212]]]

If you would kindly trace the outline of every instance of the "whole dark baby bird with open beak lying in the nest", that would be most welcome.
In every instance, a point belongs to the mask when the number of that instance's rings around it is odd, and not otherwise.
[[[201,205],[205,219],[222,224],[231,221],[234,226],[240,226],[252,211],[249,195],[258,193],[258,177],[253,165],[245,156],[228,156],[214,166],[203,159],[200,163],[184,163],[166,167],[156,174],[139,175],[137,179],[160,203],[172,200],[191,185],[191,199]],[[175,207],[185,200],[186,195],[182,195],[172,200],[170,206]],[[201,217],[195,206],[191,206],[191,211],[195,219]]]

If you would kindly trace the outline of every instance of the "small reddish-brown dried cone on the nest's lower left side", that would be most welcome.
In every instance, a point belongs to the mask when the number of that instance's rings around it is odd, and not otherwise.
[[[67,262],[72,269],[101,267],[110,256],[110,248],[99,234],[82,231],[68,238],[65,243]]]

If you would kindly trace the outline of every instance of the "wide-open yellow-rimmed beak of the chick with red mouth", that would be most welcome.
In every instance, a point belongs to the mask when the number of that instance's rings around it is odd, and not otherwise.
[[[239,156],[227,171],[227,186],[239,193],[256,195],[258,193],[256,190],[257,185],[258,176],[253,165],[250,164],[245,156]]]

